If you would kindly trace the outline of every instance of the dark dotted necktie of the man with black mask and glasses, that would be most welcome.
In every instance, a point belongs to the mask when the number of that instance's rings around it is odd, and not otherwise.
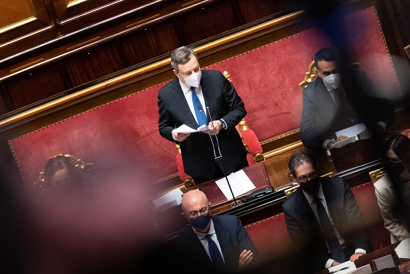
[[[346,256],[344,255],[342,246],[340,246],[339,240],[336,237],[335,230],[330,223],[325,207],[319,197],[314,197],[314,200],[316,201],[317,214],[319,215],[320,224],[322,226],[323,233],[325,234],[326,241],[329,244],[329,249],[333,260],[336,262],[346,262]]]

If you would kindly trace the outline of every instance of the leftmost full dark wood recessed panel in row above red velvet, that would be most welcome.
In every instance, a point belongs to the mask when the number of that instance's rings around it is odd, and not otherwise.
[[[16,108],[30,105],[67,89],[57,65],[50,65],[5,83]]]

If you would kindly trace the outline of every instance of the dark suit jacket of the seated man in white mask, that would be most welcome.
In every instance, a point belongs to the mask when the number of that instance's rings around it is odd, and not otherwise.
[[[334,137],[336,131],[353,126],[350,118],[358,123],[366,122],[369,128],[377,122],[389,124],[392,121],[393,106],[385,100],[371,97],[378,92],[366,74],[355,71],[352,75],[355,76],[352,81],[344,82],[350,105],[337,108],[320,77],[303,90],[302,120],[299,125],[303,145],[320,149],[326,139]]]

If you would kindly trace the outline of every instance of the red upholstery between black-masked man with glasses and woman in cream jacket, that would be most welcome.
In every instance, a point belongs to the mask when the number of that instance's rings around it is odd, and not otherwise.
[[[390,233],[384,227],[373,184],[368,183],[356,189],[352,189],[352,192],[362,211],[364,222],[366,223],[369,233],[369,240],[375,250],[380,249],[381,243],[389,242]]]

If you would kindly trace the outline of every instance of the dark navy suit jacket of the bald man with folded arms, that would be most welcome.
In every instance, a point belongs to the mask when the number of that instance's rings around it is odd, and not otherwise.
[[[249,267],[254,267],[260,262],[255,245],[237,216],[216,215],[211,216],[211,219],[214,223],[216,237],[221,246],[228,272],[239,269],[239,255],[244,249],[251,250],[253,253],[253,259]],[[212,271],[209,272],[209,270],[214,270],[212,261],[190,225],[178,236],[175,246],[180,258],[184,258],[187,262],[195,262],[192,265],[201,267],[201,269],[195,270],[200,270],[201,273],[212,273]]]

